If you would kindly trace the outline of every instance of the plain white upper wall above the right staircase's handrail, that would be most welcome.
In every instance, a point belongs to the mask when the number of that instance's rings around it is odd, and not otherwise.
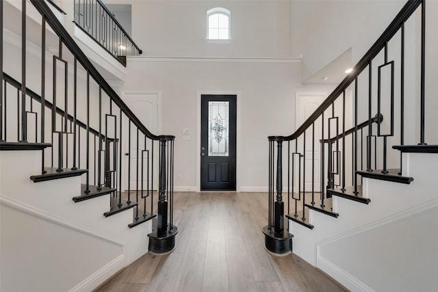
[[[302,80],[352,48],[352,64],[370,49],[406,1],[292,1],[292,55],[302,53]]]

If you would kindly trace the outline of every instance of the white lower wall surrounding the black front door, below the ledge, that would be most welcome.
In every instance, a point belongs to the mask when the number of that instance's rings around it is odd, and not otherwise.
[[[329,92],[326,86],[303,88],[299,83],[300,64],[287,60],[140,57],[130,58],[128,68],[122,90],[161,93],[162,134],[177,137],[175,189],[181,190],[196,187],[198,94],[238,93],[237,185],[242,191],[266,191],[268,135],[289,135],[295,129],[295,92]],[[182,139],[183,129],[190,129],[189,141]]]

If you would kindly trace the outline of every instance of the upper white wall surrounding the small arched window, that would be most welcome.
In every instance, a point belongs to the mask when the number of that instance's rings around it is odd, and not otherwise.
[[[132,38],[146,56],[289,57],[289,1],[133,1]],[[231,12],[231,41],[207,41],[207,10]]]

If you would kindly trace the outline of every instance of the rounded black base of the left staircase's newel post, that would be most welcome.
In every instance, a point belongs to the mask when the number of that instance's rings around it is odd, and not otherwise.
[[[178,233],[177,226],[173,225],[172,228],[167,226],[166,233],[160,233],[158,235],[158,230],[156,225],[153,224],[154,228],[152,233],[149,233],[149,252],[153,254],[166,254],[175,249],[175,235]]]

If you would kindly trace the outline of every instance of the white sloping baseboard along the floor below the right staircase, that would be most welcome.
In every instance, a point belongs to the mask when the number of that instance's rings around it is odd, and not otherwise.
[[[318,256],[316,267],[324,271],[324,273],[331,276],[331,278],[336,279],[337,282],[342,284],[350,291],[366,291],[366,292],[374,292],[373,289],[365,285],[363,282],[353,277],[344,269],[341,269],[337,265],[331,263],[331,261],[326,260],[326,258],[322,256]]]

